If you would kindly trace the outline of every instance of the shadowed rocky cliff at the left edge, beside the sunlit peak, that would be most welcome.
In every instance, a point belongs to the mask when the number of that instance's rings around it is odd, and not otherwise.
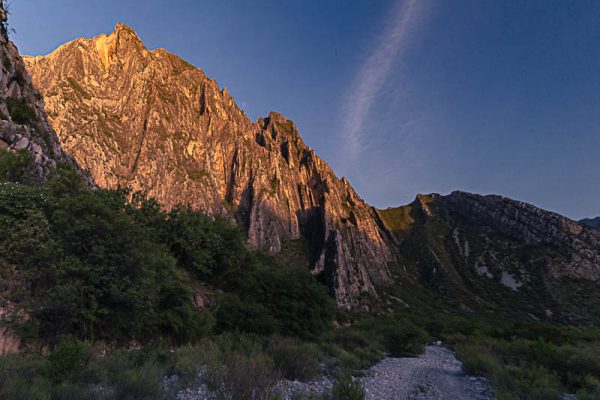
[[[44,179],[57,162],[72,163],[46,120],[41,94],[6,29],[7,13],[0,0],[0,149],[26,150],[35,161],[36,174]]]

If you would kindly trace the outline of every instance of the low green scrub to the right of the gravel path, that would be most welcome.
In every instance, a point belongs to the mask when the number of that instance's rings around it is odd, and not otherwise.
[[[600,398],[598,330],[451,318],[437,332],[468,372],[491,379],[499,399],[560,399],[565,392]]]

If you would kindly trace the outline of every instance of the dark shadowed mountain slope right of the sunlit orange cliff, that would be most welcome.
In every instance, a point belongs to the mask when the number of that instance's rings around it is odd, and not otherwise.
[[[379,215],[400,263],[391,296],[497,318],[600,324],[599,231],[523,202],[464,192],[420,195]]]

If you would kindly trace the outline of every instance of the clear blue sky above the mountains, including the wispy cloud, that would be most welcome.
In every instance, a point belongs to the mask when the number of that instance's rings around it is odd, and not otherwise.
[[[132,26],[279,111],[378,207],[498,193],[600,215],[600,2],[13,0],[37,55]]]

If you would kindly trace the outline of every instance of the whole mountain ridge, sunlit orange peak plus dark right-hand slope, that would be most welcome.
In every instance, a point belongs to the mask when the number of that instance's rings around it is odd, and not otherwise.
[[[600,324],[600,232],[500,196],[420,195],[377,210],[271,113],[119,24],[26,57],[61,143],[98,185],[236,221],[306,264],[340,307]]]

